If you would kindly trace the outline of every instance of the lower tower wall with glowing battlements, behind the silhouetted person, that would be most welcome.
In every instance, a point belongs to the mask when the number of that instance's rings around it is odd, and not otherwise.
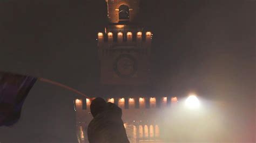
[[[160,136],[159,114],[175,106],[177,97],[123,97],[105,98],[106,102],[117,104],[122,109],[124,126],[130,142],[157,141]],[[77,136],[80,142],[87,142],[87,125],[92,120],[91,99],[77,98],[74,101],[76,111]]]

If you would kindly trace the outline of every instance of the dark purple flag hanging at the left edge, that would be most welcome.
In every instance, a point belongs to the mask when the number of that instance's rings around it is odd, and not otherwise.
[[[0,71],[0,126],[17,123],[25,98],[36,80],[36,77]]]

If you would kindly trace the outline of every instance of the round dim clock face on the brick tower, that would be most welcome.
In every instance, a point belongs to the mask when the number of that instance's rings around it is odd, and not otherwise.
[[[114,61],[113,69],[119,77],[131,77],[137,71],[137,61],[129,54],[123,54]]]

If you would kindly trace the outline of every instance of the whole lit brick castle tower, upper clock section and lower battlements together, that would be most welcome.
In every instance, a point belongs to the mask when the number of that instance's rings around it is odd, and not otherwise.
[[[152,32],[139,26],[139,0],[106,0],[109,24],[98,32],[98,59],[100,84],[139,88],[147,85],[150,76]],[[160,127],[154,116],[177,103],[172,96],[130,95],[102,96],[107,102],[123,110],[123,121],[131,142],[140,139],[158,139]],[[91,100],[77,98],[74,110],[78,125],[78,140],[86,142],[86,127],[90,123]]]

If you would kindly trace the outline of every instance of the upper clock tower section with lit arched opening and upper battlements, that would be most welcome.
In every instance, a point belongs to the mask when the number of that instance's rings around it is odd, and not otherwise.
[[[106,0],[109,24],[98,33],[100,82],[145,85],[149,82],[152,33],[138,25],[139,0]]]

